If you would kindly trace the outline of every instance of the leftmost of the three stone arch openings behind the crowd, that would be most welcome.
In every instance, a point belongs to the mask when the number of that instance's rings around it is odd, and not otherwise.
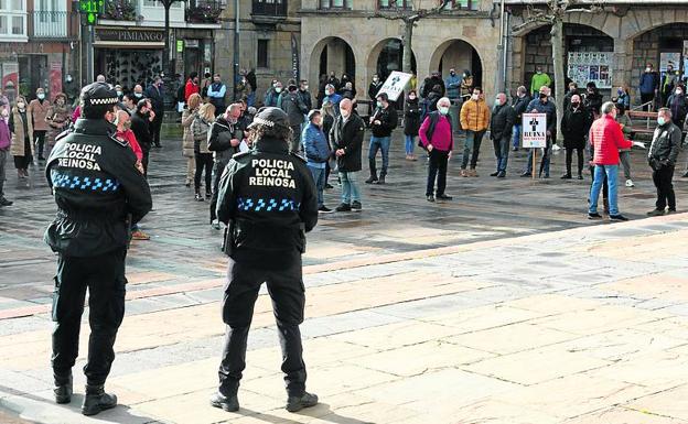
[[[309,56],[308,79],[315,84],[320,80],[321,62],[323,55],[327,56],[327,72],[334,70],[337,76],[343,73],[348,74],[353,79],[356,75],[356,55],[352,48],[352,42],[342,36],[325,36],[313,45]]]

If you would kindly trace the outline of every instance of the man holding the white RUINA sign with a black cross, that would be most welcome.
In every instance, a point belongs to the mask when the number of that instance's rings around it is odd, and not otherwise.
[[[539,91],[539,98],[534,99],[533,101],[530,101],[530,105],[528,105],[528,108],[526,109],[526,113],[524,113],[524,121],[523,121],[523,140],[524,140],[524,148],[530,148],[530,146],[542,146],[545,152],[542,155],[542,162],[540,163],[540,172],[538,173],[538,176],[542,176],[542,171],[545,171],[545,178],[549,178],[549,159],[551,155],[551,146],[552,146],[552,140],[556,139],[557,137],[557,108],[555,106],[553,102],[549,101],[549,93],[550,89],[547,86],[542,86],[540,87],[540,91]],[[534,133],[537,134],[533,134],[533,135],[537,135],[537,138],[541,138],[541,131],[537,131],[538,128],[542,128],[540,127],[541,123],[538,119],[535,119],[536,117],[533,116],[528,116],[528,113],[545,113],[546,117],[546,124],[545,124],[545,137],[546,137],[546,142],[545,145],[541,144],[537,144],[537,145],[528,145],[527,144],[527,140],[529,139],[527,135],[528,129],[534,129],[536,131],[533,131]],[[527,121],[526,119],[529,118]],[[530,138],[531,139],[531,138]],[[533,139],[531,139],[533,140]],[[520,176],[523,177],[527,177],[530,176],[533,174],[533,154],[535,149],[530,149],[530,152],[528,153],[528,162],[526,163],[526,170],[524,171],[523,174],[520,174]]]

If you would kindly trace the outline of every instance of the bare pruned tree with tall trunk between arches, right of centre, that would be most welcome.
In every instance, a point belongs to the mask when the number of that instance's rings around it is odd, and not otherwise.
[[[563,116],[565,70],[563,70],[563,19],[567,13],[599,13],[602,6],[591,0],[547,0],[542,7],[528,4],[524,22],[514,26],[520,31],[534,23],[551,25],[552,65],[555,67],[555,105],[557,106],[557,138],[561,140],[561,117]]]

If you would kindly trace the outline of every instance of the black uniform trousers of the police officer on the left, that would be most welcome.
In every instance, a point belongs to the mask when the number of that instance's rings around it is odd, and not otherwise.
[[[115,360],[115,338],[125,316],[125,258],[118,249],[98,257],[60,256],[53,294],[53,372],[65,383],[78,356],[79,329],[88,287],[88,360],[84,367],[89,385],[105,384]]]

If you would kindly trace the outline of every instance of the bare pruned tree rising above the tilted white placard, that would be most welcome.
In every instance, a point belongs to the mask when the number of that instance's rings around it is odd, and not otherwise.
[[[404,35],[401,36],[404,58],[401,61],[401,70],[410,74],[411,57],[413,55],[411,47],[413,41],[413,26],[416,26],[418,21],[423,18],[442,13],[450,0],[442,0],[438,6],[431,9],[421,8],[421,3],[427,0],[412,0],[412,9],[399,6],[399,1],[400,0],[389,0],[389,9],[378,10],[368,19],[384,18],[390,21],[401,21],[404,23]]]

